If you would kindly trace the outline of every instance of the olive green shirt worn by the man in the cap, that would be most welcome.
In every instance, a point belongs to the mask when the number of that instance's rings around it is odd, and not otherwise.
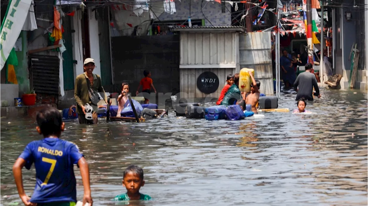
[[[91,104],[91,99],[89,98],[88,92],[88,83],[89,81],[86,72],[83,74],[79,74],[75,79],[75,86],[74,86],[74,99],[77,102],[77,113],[83,114],[82,107],[86,103]],[[103,92],[103,98],[107,101],[107,96],[105,90],[102,87],[101,78],[98,74],[93,74],[93,85],[91,85],[94,91]],[[91,105],[93,107],[93,111],[97,112],[97,107]]]

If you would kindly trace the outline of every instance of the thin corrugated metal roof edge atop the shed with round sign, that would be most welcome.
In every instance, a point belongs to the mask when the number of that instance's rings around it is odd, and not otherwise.
[[[243,26],[173,26],[171,31],[183,32],[244,32]]]

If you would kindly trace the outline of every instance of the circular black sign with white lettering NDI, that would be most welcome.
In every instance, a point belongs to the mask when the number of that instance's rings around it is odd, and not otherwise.
[[[205,71],[198,76],[197,88],[205,94],[216,92],[219,88],[219,78],[215,73]]]

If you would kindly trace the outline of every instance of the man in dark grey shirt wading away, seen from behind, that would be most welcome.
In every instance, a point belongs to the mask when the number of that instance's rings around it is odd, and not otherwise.
[[[304,98],[305,100],[313,101],[313,87],[316,90],[315,96],[318,96],[318,98],[321,97],[317,79],[315,75],[311,73],[312,67],[311,63],[305,65],[305,72],[300,73],[294,82],[294,87],[298,92],[296,100]]]

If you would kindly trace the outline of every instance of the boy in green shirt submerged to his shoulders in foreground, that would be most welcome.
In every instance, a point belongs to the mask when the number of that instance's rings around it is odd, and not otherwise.
[[[144,186],[142,168],[131,165],[127,167],[123,173],[123,186],[127,188],[127,193],[117,195],[115,201],[129,200],[150,200],[148,195],[139,193],[139,189]]]

